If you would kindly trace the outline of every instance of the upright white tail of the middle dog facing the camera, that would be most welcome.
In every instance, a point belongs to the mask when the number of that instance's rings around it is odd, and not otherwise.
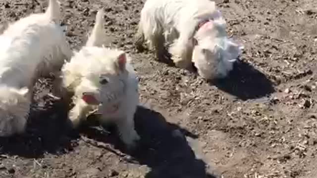
[[[91,32],[86,46],[102,46],[103,45],[103,36],[104,36],[104,15],[105,12],[103,9],[98,10],[96,14],[96,22]]]

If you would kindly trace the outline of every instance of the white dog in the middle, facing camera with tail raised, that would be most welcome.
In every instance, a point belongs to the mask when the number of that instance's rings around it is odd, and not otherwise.
[[[86,46],[61,70],[63,87],[74,93],[69,119],[77,127],[98,110],[100,121],[114,122],[122,141],[133,147],[140,138],[133,120],[139,103],[138,79],[125,52],[102,46],[103,25],[104,12],[99,10]]]

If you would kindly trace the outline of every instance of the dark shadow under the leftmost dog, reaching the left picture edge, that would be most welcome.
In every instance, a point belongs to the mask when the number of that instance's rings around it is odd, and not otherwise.
[[[38,91],[35,96],[44,91],[38,85],[35,88],[35,92]],[[69,134],[64,103],[48,96],[35,100],[35,104],[31,105],[25,133],[0,137],[0,154],[40,158],[45,153],[64,154],[76,146],[76,142],[72,140],[78,135]]]

